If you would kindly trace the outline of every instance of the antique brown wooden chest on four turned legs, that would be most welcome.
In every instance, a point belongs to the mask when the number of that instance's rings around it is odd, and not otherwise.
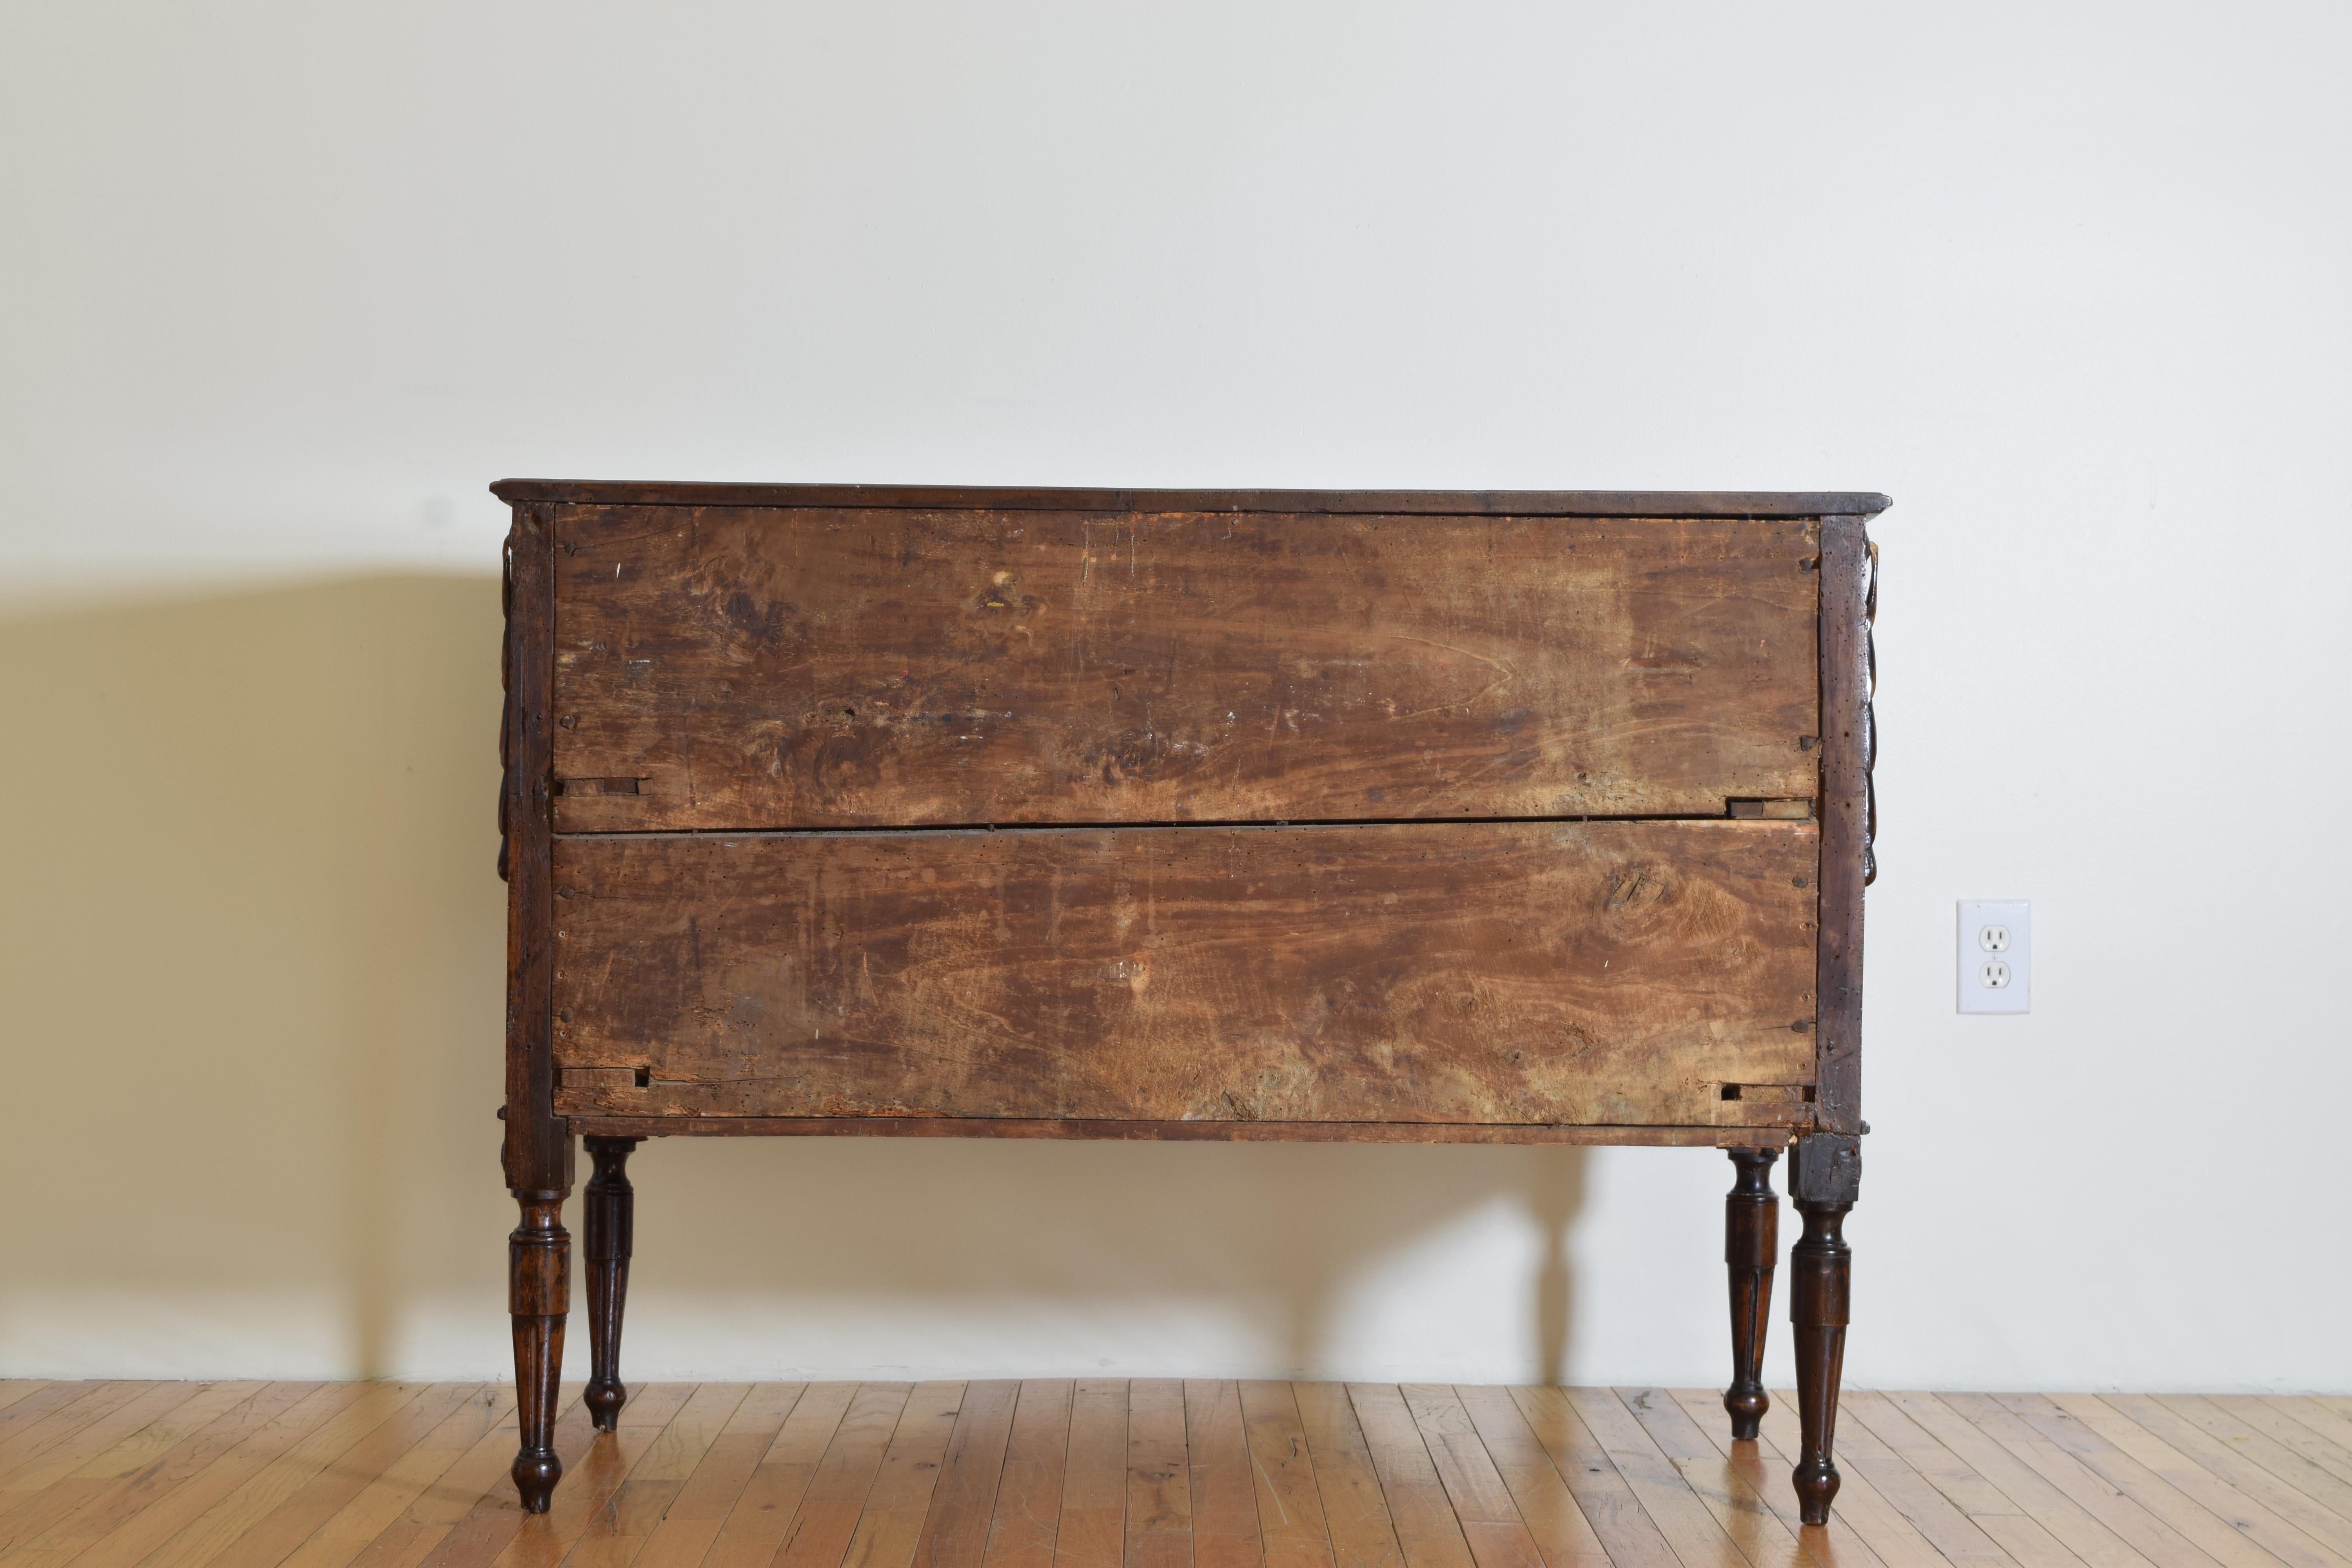
[[[1860,1159],[1867,494],[508,480],[522,1450],[586,1135],[609,1427],[656,1135],[1792,1147],[1823,1519]]]

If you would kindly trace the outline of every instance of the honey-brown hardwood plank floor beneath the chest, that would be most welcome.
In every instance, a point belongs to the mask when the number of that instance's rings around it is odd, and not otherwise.
[[[499,1385],[5,1382],[0,1563],[45,1568],[2352,1568],[2352,1399],[1334,1382],[576,1389],[527,1519]]]

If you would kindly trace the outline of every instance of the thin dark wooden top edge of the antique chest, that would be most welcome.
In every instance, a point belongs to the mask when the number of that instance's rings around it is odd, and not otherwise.
[[[1875,491],[1672,489],[1023,489],[1007,484],[684,484],[499,480],[506,503],[811,505],[1009,512],[1428,512],[1470,517],[1875,517]]]

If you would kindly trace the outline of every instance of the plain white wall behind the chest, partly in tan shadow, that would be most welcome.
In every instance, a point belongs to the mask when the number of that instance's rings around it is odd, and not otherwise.
[[[1893,494],[1851,1378],[2352,1389],[2343,7],[9,33],[0,1371],[501,1366],[482,487],[595,475]],[[1703,1152],[637,1171],[642,1375],[1724,1366]]]

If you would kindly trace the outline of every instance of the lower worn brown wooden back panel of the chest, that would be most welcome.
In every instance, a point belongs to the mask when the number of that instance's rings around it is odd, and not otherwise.
[[[1710,1126],[1813,1079],[1816,860],[1776,820],[562,837],[557,1112]]]

